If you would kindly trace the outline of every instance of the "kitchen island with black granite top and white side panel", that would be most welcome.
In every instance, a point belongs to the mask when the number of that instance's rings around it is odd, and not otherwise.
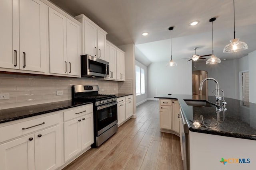
[[[251,170],[256,165],[256,104],[225,98],[227,110],[189,106],[185,100],[207,100],[214,96],[159,95],[155,98],[178,100],[186,135],[184,164],[198,170]],[[203,117],[203,119],[202,119]],[[204,122],[203,122],[203,121]],[[217,121],[218,120],[218,121]],[[187,159],[187,161],[186,161]]]

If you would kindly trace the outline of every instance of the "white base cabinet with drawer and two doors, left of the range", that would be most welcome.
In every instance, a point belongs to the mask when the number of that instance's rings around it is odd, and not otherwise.
[[[94,143],[92,107],[64,111],[64,162]]]

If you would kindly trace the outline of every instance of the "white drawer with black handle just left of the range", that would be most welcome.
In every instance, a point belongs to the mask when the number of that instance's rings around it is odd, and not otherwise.
[[[76,117],[80,117],[81,115],[86,115],[89,113],[93,113],[93,104],[75,107],[75,109],[64,111],[64,121],[74,119]]]

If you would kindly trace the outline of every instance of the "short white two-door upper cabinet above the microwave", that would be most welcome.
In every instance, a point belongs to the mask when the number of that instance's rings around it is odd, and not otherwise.
[[[82,23],[82,51],[81,55],[91,55],[105,60],[106,31],[92,20],[81,14],[75,17]]]

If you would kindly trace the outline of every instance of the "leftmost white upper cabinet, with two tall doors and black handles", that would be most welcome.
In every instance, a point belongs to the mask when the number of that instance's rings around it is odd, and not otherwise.
[[[46,5],[40,0],[4,0],[0,11],[0,67],[45,72]]]

